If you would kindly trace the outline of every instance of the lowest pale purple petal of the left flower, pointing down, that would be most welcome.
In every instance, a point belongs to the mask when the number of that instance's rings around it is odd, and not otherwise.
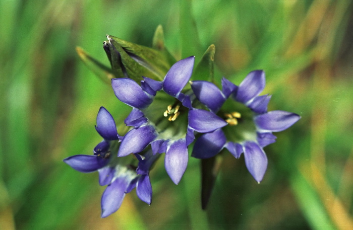
[[[128,185],[129,182],[125,178],[116,178],[113,183],[106,187],[101,199],[102,218],[107,217],[120,208]]]

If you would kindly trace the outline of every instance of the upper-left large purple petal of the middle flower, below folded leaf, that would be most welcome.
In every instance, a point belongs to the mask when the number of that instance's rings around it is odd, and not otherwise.
[[[117,99],[132,107],[143,109],[153,101],[153,97],[144,92],[132,79],[112,79],[111,86]]]

